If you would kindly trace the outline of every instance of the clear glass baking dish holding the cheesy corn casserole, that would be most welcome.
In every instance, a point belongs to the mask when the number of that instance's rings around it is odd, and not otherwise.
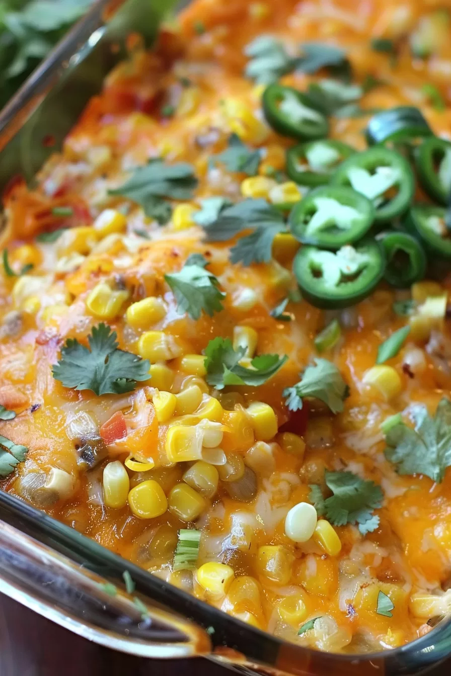
[[[98,0],[72,28],[0,114],[1,190],[17,175],[32,182],[124,56],[126,37],[139,32],[150,44],[168,4]],[[412,674],[451,652],[446,619],[387,652],[308,650],[208,606],[3,491],[0,519],[0,592],[109,648],[149,658],[203,655],[240,673],[275,676]],[[136,585],[131,595],[124,571]]]

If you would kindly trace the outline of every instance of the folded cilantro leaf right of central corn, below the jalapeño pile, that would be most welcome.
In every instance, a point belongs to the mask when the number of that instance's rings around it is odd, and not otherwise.
[[[316,397],[327,404],[333,413],[341,413],[349,387],[335,364],[327,359],[315,358],[314,366],[307,366],[301,377],[299,383],[283,391],[289,410],[302,408],[302,397]]]

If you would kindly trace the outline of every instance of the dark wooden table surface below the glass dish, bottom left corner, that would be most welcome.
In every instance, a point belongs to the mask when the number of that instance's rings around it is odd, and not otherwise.
[[[0,594],[0,676],[228,676],[208,660],[144,660],[101,648]]]

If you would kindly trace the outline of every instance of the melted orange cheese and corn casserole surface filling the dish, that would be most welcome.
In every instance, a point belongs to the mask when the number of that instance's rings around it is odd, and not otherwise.
[[[334,416],[313,402],[308,414],[293,416],[283,389],[298,382],[317,356],[314,337],[338,313],[300,301],[289,306],[290,322],[272,318],[270,310],[295,288],[291,265],[299,244],[289,235],[277,236],[271,262],[231,265],[231,241],[206,243],[192,214],[205,197],[241,199],[245,174],[209,164],[227,147],[231,132],[250,147],[264,149],[261,176],[268,167],[285,167],[285,149],[293,141],[264,122],[262,87],[243,76],[243,49],[259,34],[287,44],[339,45],[357,83],[369,74],[383,80],[362,97],[362,107],[417,106],[435,134],[451,139],[449,33],[440,44],[437,37],[428,59],[412,57],[409,46],[425,17],[442,6],[433,0],[366,0],[358,7],[350,0],[196,0],[176,27],[162,30],[153,51],[144,51],[138,37],[130,40],[127,62],[87,105],[62,152],[41,171],[37,189],[16,183],[4,197],[3,247],[9,263],[16,272],[26,264],[34,267],[22,277],[0,274],[0,404],[17,413],[13,420],[0,420],[0,433],[29,449],[3,489],[238,619],[321,650],[362,652],[412,641],[429,626],[427,615],[418,617],[412,610],[410,598],[448,587],[450,470],[440,484],[421,475],[397,475],[383,455],[380,425],[412,402],[425,404],[433,414],[440,399],[450,395],[450,329],[446,321],[440,325],[445,347],[438,350],[430,335],[408,337],[388,362],[401,387],[387,399],[364,383],[364,374],[374,366],[381,342],[405,324],[391,306],[409,298],[410,290],[400,294],[381,284],[358,306],[341,312],[342,337],[322,355],[335,362],[350,387],[343,413]],[[396,63],[371,49],[371,39],[399,42]],[[304,90],[316,78],[296,72],[281,82]],[[431,105],[422,90],[425,82],[446,99],[445,110]],[[172,114],[165,117],[162,107],[168,105]],[[364,149],[367,121],[365,116],[334,120],[331,137]],[[133,168],[160,157],[170,164],[190,162],[199,179],[193,200],[183,209],[174,203],[172,219],[163,227],[135,203],[108,194]],[[70,208],[70,215],[61,216],[55,208]],[[101,231],[93,224],[106,209],[126,215],[110,231]],[[53,243],[35,239],[62,227],[70,229]],[[201,314],[199,320],[178,314],[164,281],[193,253],[204,254],[226,294],[222,312]],[[125,292],[117,312],[106,319],[89,307],[90,294],[102,281]],[[451,279],[440,285],[447,292]],[[147,297],[160,299],[161,316],[130,325],[127,308]],[[135,354],[145,331],[168,338],[168,358],[153,362],[149,380],[137,383],[133,392],[97,397],[68,389],[52,376],[66,339],[86,344],[103,320],[117,332],[120,348]],[[264,385],[215,391],[183,356],[203,354],[214,337],[233,339],[235,327],[256,331],[256,354],[289,359]],[[200,389],[204,402],[209,395],[220,402],[220,448],[235,462],[238,475],[244,463],[256,481],[243,502],[231,497],[228,482],[220,479],[211,495],[201,496],[204,502],[192,519],[181,518],[183,508],[174,508],[170,494],[175,486],[187,486],[183,476],[193,462],[170,461],[166,434],[172,418],[158,422],[153,404],[159,390],[179,395],[189,386]],[[288,423],[296,436],[283,431],[262,436],[246,412],[256,401],[271,407],[279,429]],[[188,405],[184,424],[197,425],[199,410],[198,402],[193,410]],[[106,443],[99,430],[116,412],[123,414],[125,435]],[[262,461],[262,454],[269,459]],[[126,472],[130,489],[148,480],[160,485],[169,499],[160,516],[139,518],[126,500],[116,508],[105,504],[103,470],[128,457],[153,464]],[[341,550],[333,556],[315,539],[296,544],[284,529],[289,509],[310,502],[309,485],[323,484],[325,468],[350,470],[384,492],[376,510],[379,527],[366,536],[354,525],[335,527]],[[177,532],[187,523],[202,531],[197,567],[219,562],[233,569],[233,581],[222,593],[204,588],[195,571],[172,571]],[[376,612],[379,592],[394,604],[391,617]],[[319,616],[321,631],[298,636],[306,621]]]

